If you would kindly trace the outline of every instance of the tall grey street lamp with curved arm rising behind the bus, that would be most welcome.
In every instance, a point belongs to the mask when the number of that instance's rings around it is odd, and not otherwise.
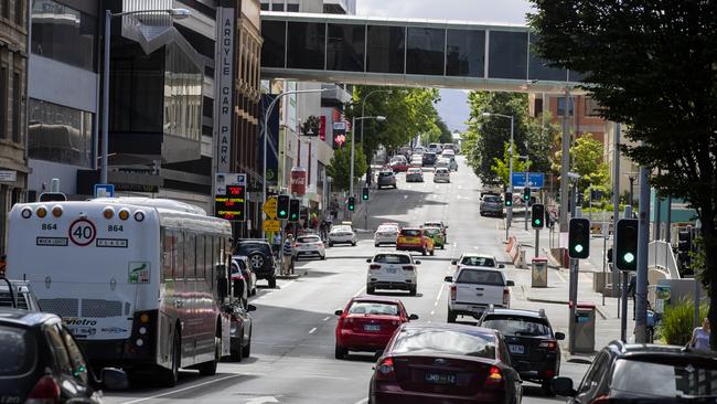
[[[192,13],[186,9],[164,9],[164,10],[135,10],[113,13],[111,10],[105,10],[105,66],[103,77],[103,149],[101,166],[99,172],[99,182],[107,183],[107,159],[109,157],[109,53],[111,39],[113,17],[124,17],[145,13],[165,13],[175,20],[182,20]]]

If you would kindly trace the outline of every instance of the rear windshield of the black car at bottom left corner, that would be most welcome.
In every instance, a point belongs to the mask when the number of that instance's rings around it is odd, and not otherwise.
[[[35,365],[38,347],[30,332],[0,326],[0,378],[21,375]]]

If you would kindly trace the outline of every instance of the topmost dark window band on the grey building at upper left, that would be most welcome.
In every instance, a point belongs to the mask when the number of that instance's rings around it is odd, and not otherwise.
[[[32,2],[32,53],[96,71],[97,20],[52,0]]]

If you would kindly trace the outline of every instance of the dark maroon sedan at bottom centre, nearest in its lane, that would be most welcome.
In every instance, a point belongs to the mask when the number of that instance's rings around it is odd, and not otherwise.
[[[403,323],[376,361],[368,402],[520,404],[521,376],[500,333],[480,327]]]

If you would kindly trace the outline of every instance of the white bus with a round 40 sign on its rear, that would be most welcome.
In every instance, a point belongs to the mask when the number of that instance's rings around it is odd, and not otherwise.
[[[229,222],[171,200],[15,204],[7,268],[34,286],[95,363],[214,374],[229,355]]]

